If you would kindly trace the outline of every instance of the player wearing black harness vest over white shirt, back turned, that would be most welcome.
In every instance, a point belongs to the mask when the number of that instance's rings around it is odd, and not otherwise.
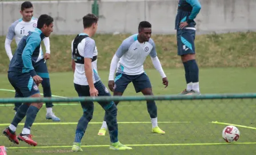
[[[108,89],[102,84],[97,72],[97,55],[95,41],[91,36],[95,34],[98,27],[98,18],[93,14],[83,17],[83,33],[77,35],[71,43],[72,69],[74,72],[74,87],[78,96],[110,96]],[[117,107],[113,101],[98,102],[105,109],[107,127],[110,134],[110,149],[127,150],[132,149],[118,141]],[[82,151],[81,140],[85,134],[88,123],[93,118],[94,104],[92,101],[81,101],[83,115],[79,119],[75,131],[75,140],[72,150]]]

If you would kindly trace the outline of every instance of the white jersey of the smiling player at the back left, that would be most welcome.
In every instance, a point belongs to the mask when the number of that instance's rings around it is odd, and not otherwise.
[[[37,28],[37,20],[38,19],[34,18],[34,17],[29,22],[25,22],[22,19],[18,19],[17,21],[15,21],[14,23],[11,24],[11,26],[9,27],[9,30],[7,32],[6,40],[5,40],[6,53],[9,56],[10,59],[13,57],[13,54],[11,52],[11,46],[10,46],[11,41],[13,39],[15,39],[15,42],[18,46],[22,37],[24,35],[26,35],[27,32],[33,31],[35,28]],[[47,38],[43,39],[43,42],[44,42],[45,47],[46,47],[46,52],[50,54],[50,40],[49,40],[49,38],[47,37]],[[37,62],[39,62],[39,60],[43,59],[42,47],[40,47],[40,51],[41,52],[38,56]]]

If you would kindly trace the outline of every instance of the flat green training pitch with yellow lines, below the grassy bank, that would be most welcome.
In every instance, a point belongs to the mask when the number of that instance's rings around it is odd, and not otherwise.
[[[243,93],[255,92],[256,68],[202,68],[199,80],[202,93]],[[155,95],[177,94],[185,88],[184,72],[182,69],[165,70],[169,78],[169,87],[163,88],[161,77],[155,70],[146,70],[153,85]],[[107,84],[107,71],[99,71],[103,83]],[[50,74],[53,95],[77,96],[73,87],[71,72]],[[13,89],[6,74],[0,75],[2,89]],[[40,87],[41,89],[41,87]],[[42,90],[42,89],[41,89]],[[130,84],[125,95],[141,95],[134,92]],[[0,91],[0,97],[13,97],[13,92]],[[109,150],[109,134],[105,137],[97,136],[103,119],[103,109],[95,103],[95,112],[82,140],[83,153],[70,152],[74,139],[76,123],[82,115],[80,105],[55,104],[54,112],[61,118],[61,122],[52,125],[45,120],[45,106],[39,111],[35,123],[49,123],[47,125],[33,125],[31,134],[39,146],[57,146],[57,148],[34,148],[24,142],[19,145],[11,144],[6,137],[0,136],[0,145],[5,145],[8,154],[255,154],[256,130],[239,128],[242,144],[225,144],[221,132],[226,125],[212,124],[211,121],[245,125],[255,127],[256,102],[247,100],[191,100],[191,101],[156,101],[158,106],[158,121],[179,122],[159,123],[159,127],[166,131],[161,136],[151,133],[151,123],[145,102],[122,102],[118,105],[119,140],[132,146],[133,150],[115,152]],[[77,104],[77,103],[76,103]],[[0,106],[0,128],[4,129],[13,119],[13,106]],[[24,121],[22,121],[23,123]],[[124,124],[123,122],[127,122]],[[135,124],[134,122],[141,122]],[[70,123],[63,125],[61,123]],[[73,123],[73,124],[71,124]],[[17,133],[21,132],[18,126]],[[142,144],[162,144],[162,146],[142,146]],[[170,146],[166,144],[171,144]],[[208,144],[208,145],[206,145]],[[99,145],[99,146],[91,146]],[[166,146],[164,146],[166,145]],[[12,147],[29,147],[15,149]],[[66,147],[59,147],[66,146]]]

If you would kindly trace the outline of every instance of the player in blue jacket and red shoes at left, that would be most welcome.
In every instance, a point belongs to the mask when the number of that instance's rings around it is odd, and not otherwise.
[[[38,84],[42,83],[43,79],[37,75],[32,64],[35,63],[41,54],[42,40],[45,37],[49,37],[52,31],[53,18],[43,14],[38,18],[37,28],[25,34],[18,44],[17,50],[9,64],[8,79],[21,97],[41,97]],[[19,139],[29,145],[36,146],[37,142],[32,140],[30,128],[42,105],[43,103],[23,103],[18,108],[9,127],[3,130],[3,134],[15,144],[19,144]],[[15,130],[25,116],[24,128],[17,138]]]

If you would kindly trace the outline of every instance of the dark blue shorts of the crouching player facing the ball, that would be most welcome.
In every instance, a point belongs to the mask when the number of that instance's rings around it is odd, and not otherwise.
[[[145,73],[139,75],[117,73],[115,74],[114,91],[123,93],[130,82],[133,82],[133,86],[137,93],[141,92],[145,88],[151,88],[149,76],[147,76]]]

